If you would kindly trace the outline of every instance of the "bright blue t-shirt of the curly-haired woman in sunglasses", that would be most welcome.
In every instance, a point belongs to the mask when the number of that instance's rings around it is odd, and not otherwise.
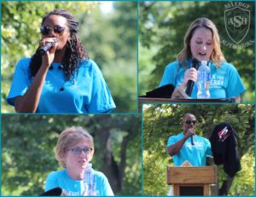
[[[31,59],[21,59],[7,101],[15,105],[15,98],[26,94],[33,78],[29,71]],[[115,108],[102,72],[91,60],[81,61],[74,78],[65,81],[60,63],[52,63],[48,70],[38,103],[37,113],[108,113]]]

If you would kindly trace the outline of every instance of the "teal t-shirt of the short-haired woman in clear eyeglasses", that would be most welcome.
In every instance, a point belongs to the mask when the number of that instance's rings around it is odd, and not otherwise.
[[[96,179],[97,195],[113,195],[112,188],[108,183],[108,178],[100,171],[93,170],[93,174]],[[85,189],[84,180],[73,180],[73,178],[68,176],[66,169],[62,171],[52,171],[46,179],[45,191],[58,187],[65,189],[70,196],[81,196]]]

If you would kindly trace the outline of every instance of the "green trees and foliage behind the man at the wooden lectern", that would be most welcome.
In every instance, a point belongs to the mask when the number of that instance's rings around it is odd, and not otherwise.
[[[253,196],[255,186],[254,158],[254,105],[146,105],[143,111],[143,194],[166,195],[166,165],[173,160],[166,154],[169,136],[182,132],[182,117],[194,113],[198,124],[196,134],[207,139],[215,125],[229,122],[237,133],[237,150],[241,158],[241,171],[236,173],[228,195]],[[227,175],[218,165],[218,187]],[[218,188],[217,188],[218,190]],[[213,190],[214,191],[214,190]],[[218,195],[218,193],[213,195]]]

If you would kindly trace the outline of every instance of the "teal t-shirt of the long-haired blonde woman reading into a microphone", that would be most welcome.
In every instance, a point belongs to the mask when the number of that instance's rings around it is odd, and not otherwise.
[[[188,68],[191,67],[191,61],[187,60]],[[209,67],[211,69],[211,98],[230,98],[240,96],[246,89],[241,82],[239,73],[236,67],[224,62],[220,67],[217,67],[210,61]],[[182,65],[178,65],[174,61],[166,66],[164,75],[161,79],[160,86],[165,84],[173,84],[175,87],[183,83],[184,72],[186,69]],[[197,84],[193,86],[192,98],[196,98]]]

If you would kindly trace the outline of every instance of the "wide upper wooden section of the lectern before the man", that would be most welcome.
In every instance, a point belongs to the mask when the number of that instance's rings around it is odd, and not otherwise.
[[[173,167],[167,166],[167,184],[217,183],[217,166]]]

